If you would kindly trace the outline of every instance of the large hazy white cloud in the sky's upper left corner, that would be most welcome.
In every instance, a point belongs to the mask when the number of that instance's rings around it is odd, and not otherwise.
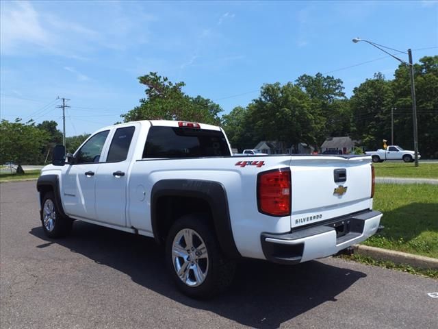
[[[132,14],[102,5],[93,10],[105,16],[105,20],[99,24],[88,21],[90,27],[42,8],[41,3],[1,1],[2,55],[27,56],[42,51],[88,60],[102,48],[124,51],[149,42],[149,23],[157,20],[142,10]]]

